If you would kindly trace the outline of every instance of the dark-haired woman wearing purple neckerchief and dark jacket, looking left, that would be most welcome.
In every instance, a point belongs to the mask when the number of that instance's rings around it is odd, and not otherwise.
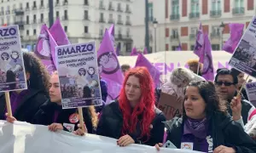
[[[254,153],[256,143],[232,121],[212,82],[190,82],[183,116],[166,122],[167,140],[178,149],[214,153]],[[160,150],[162,144],[155,145]]]

